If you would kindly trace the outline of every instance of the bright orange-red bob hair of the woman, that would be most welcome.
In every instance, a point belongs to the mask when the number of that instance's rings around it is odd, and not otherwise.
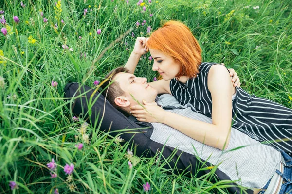
[[[176,77],[196,77],[201,64],[201,47],[190,29],[179,21],[168,21],[154,31],[147,46],[171,56],[182,66]]]

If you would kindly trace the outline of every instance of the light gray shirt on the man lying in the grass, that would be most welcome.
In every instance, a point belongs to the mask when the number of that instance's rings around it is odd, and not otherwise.
[[[157,97],[156,102],[165,107],[166,111],[212,123],[212,119],[196,113],[191,104],[183,106],[172,95],[161,95]],[[204,145],[165,124],[151,124],[154,127],[151,135],[152,140],[197,155],[202,160],[218,165],[219,170],[244,187],[263,188],[272,178],[281,160],[279,151],[271,146],[261,144],[234,128],[231,128],[228,147],[222,151]]]

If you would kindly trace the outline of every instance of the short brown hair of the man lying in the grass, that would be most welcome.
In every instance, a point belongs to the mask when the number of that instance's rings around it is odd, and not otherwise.
[[[115,76],[122,72],[130,73],[130,71],[125,67],[117,67],[111,70],[110,73],[105,76],[104,82],[102,84],[102,87],[105,88],[105,90],[102,92],[102,95],[106,97],[106,99],[110,102],[110,104],[112,104],[114,108],[123,113],[125,116],[129,117],[131,114],[125,111],[122,107],[116,105],[114,102],[116,97],[126,95],[126,93],[120,87],[120,84],[114,81]]]

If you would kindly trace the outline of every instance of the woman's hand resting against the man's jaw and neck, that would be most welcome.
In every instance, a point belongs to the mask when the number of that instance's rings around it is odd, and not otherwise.
[[[156,104],[147,103],[143,100],[144,106],[136,105],[131,107],[130,113],[142,122],[164,123],[165,111]]]

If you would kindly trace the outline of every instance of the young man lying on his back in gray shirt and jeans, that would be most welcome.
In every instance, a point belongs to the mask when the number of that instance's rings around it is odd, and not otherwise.
[[[103,95],[128,117],[132,113],[131,107],[141,106],[145,100],[148,105],[159,106],[178,116],[212,123],[210,118],[197,113],[191,104],[182,106],[173,96],[167,94],[157,97],[157,91],[147,84],[146,78],[135,77],[128,69],[118,67],[106,76],[106,80],[103,87],[110,86],[104,90]],[[137,117],[139,115],[138,112],[132,114]],[[226,144],[215,148],[184,135],[179,129],[162,123],[151,124],[151,140],[197,155],[201,160],[208,159],[213,165],[219,164],[219,173],[224,173],[228,179],[250,188],[253,193],[292,192],[292,158],[282,150],[261,144],[233,128],[225,138]],[[242,148],[235,149],[237,147]]]

